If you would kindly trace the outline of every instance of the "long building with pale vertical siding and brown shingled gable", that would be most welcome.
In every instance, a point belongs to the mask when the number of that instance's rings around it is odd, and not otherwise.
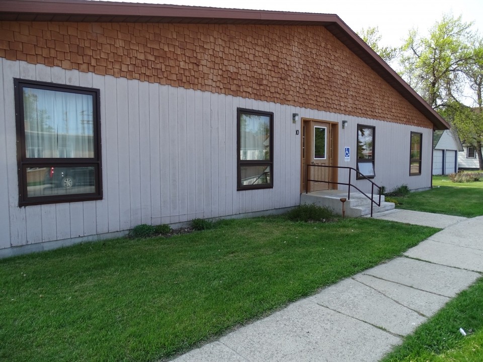
[[[0,256],[428,189],[449,128],[336,15],[4,0],[0,70]]]

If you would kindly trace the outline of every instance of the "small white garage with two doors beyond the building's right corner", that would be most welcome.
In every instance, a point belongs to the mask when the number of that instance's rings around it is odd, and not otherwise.
[[[450,174],[458,171],[458,156],[463,146],[452,130],[434,131],[433,174]]]

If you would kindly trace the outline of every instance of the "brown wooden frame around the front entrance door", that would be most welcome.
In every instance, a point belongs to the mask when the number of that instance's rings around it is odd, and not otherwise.
[[[301,118],[300,126],[300,193],[305,192],[305,169],[304,169],[304,158],[305,161],[310,159],[310,152],[311,149],[308,149],[307,146],[311,145],[311,139],[313,137],[312,130],[310,127],[310,122],[324,122],[330,125],[330,140],[329,140],[329,147],[327,147],[327,153],[329,158],[329,164],[331,166],[338,166],[339,165],[339,122],[332,122],[326,121],[323,119],[316,119],[316,118]],[[308,132],[307,132],[308,131]],[[333,172],[330,172],[330,181],[332,183],[339,182],[339,172],[336,169],[333,169]],[[329,190],[338,190],[337,184],[329,184]]]

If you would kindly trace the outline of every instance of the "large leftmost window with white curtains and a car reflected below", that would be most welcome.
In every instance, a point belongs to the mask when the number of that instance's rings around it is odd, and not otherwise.
[[[19,206],[102,198],[99,90],[15,79]]]

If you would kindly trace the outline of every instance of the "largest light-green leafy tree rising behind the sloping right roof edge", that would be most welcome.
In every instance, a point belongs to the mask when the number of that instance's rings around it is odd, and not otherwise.
[[[400,58],[401,75],[434,109],[462,94],[463,66],[470,60],[469,42],[474,38],[461,16],[445,15],[428,37],[411,30]]]

